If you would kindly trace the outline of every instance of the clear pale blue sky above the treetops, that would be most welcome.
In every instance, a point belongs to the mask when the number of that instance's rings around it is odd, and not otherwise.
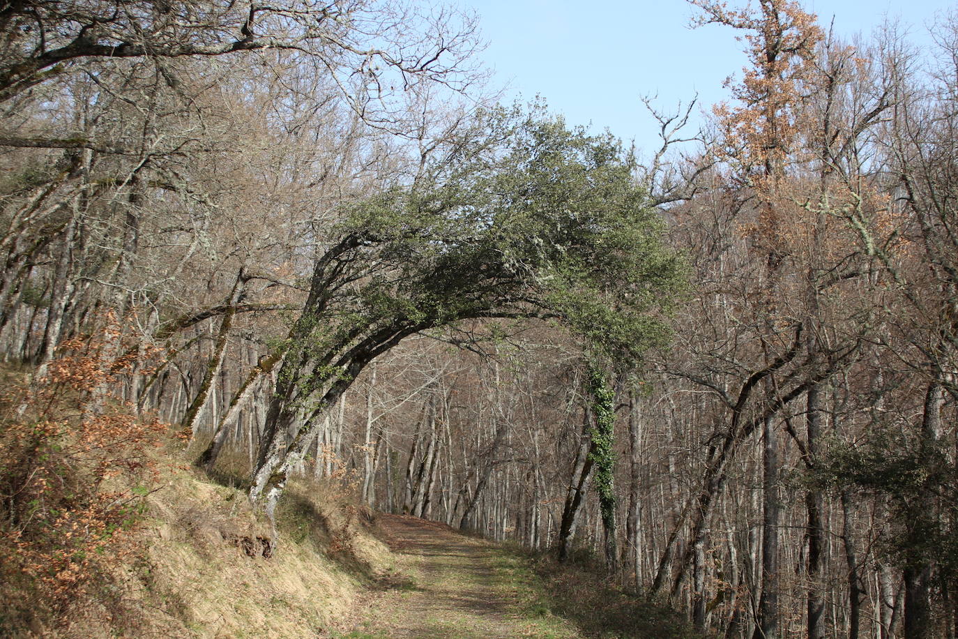
[[[672,107],[698,94],[700,109],[727,97],[722,81],[740,75],[745,57],[731,29],[689,28],[694,8],[684,0],[460,0],[480,16],[489,42],[483,59],[494,82],[508,83],[509,99],[541,95],[570,125],[608,128],[655,144],[653,122],[639,102],[658,95]],[[731,6],[742,6],[732,0]],[[823,27],[834,20],[842,37],[868,35],[885,17],[901,21],[913,38],[930,44],[926,25],[954,0],[809,0]]]

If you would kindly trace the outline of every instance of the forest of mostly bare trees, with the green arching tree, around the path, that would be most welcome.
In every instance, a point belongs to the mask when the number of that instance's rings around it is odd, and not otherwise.
[[[325,482],[700,636],[958,636],[958,11],[688,3],[748,66],[647,149],[500,103],[453,6],[0,3],[0,632],[173,464],[262,557]]]

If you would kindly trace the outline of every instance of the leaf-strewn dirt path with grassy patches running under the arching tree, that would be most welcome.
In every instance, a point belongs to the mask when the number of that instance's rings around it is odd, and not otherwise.
[[[523,559],[444,524],[380,516],[399,557],[397,577],[384,582],[346,637],[582,637],[538,604],[541,585]]]

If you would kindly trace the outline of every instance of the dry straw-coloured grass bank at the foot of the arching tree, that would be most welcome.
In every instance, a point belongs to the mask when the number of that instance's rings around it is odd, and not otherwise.
[[[148,626],[176,637],[323,636],[389,562],[358,509],[329,486],[298,482],[269,528],[245,493],[189,468],[149,498],[151,536],[139,571]]]

